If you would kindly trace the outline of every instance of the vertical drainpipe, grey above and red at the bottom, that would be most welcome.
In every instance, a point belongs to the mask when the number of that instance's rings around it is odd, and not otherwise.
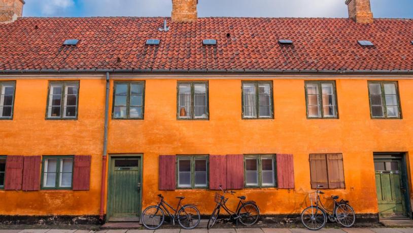
[[[106,162],[108,160],[108,124],[109,124],[109,91],[110,91],[110,82],[109,82],[109,72],[106,72],[106,100],[105,100],[105,135],[104,135],[104,144],[103,144],[103,153],[102,153],[102,181],[100,184],[100,211],[99,219],[104,220],[105,217],[105,190],[106,190]]]

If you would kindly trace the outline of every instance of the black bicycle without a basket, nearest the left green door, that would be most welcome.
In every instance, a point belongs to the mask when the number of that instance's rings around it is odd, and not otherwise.
[[[148,229],[154,230],[158,229],[165,221],[165,211],[175,225],[175,221],[185,229],[193,229],[198,226],[201,216],[199,210],[194,205],[181,205],[181,201],[185,197],[176,197],[179,199],[177,209],[171,207],[167,202],[165,202],[162,195],[158,195],[159,201],[156,206],[147,207],[144,212],[142,212],[142,223]],[[175,213],[172,214],[168,211],[166,206],[173,210]]]

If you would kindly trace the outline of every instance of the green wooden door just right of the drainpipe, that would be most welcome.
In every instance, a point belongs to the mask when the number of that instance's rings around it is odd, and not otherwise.
[[[112,158],[109,189],[109,221],[139,221],[141,158]]]

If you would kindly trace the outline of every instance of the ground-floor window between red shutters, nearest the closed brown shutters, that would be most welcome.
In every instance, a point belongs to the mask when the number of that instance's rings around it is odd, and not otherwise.
[[[275,187],[276,175],[274,155],[245,156],[246,187]]]

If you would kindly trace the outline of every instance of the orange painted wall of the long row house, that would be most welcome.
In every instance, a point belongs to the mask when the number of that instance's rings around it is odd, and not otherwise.
[[[128,80],[126,76],[116,78]],[[0,154],[92,154],[91,190],[0,190],[0,200],[10,203],[0,207],[0,215],[98,214],[105,80],[80,80],[78,121],[46,121],[48,80],[17,80],[14,120],[0,121]],[[183,79],[141,80],[146,80],[145,120],[110,120],[108,153],[144,154],[144,208],[153,204],[158,193],[173,204],[176,196],[186,196],[185,203],[197,204],[202,214],[210,214],[214,207],[215,191],[159,191],[159,154],[293,153],[294,190],[244,189],[236,193],[256,200],[264,214],[286,214],[299,213],[308,204],[308,154],[341,152],[346,189],[326,194],[349,199],[357,213],[377,213],[373,151],[413,153],[412,80],[399,80],[402,120],[370,119],[370,79],[334,76],[328,80],[336,80],[338,120],[306,119],[304,77],[263,79],[273,81],[274,119],[242,120],[241,81],[248,79],[205,78],[210,91],[209,121],[177,121],[177,81]],[[112,88],[113,82],[111,109]],[[411,179],[409,182],[411,187]],[[231,202],[235,204],[236,198]]]

